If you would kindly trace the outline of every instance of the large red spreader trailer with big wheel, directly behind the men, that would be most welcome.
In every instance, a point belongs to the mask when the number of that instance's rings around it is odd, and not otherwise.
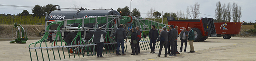
[[[195,32],[195,41],[204,41],[208,37],[216,37],[215,26],[212,18],[202,18],[201,20],[175,20],[173,17],[167,17],[168,25],[178,26],[178,33],[183,28],[191,27]]]

